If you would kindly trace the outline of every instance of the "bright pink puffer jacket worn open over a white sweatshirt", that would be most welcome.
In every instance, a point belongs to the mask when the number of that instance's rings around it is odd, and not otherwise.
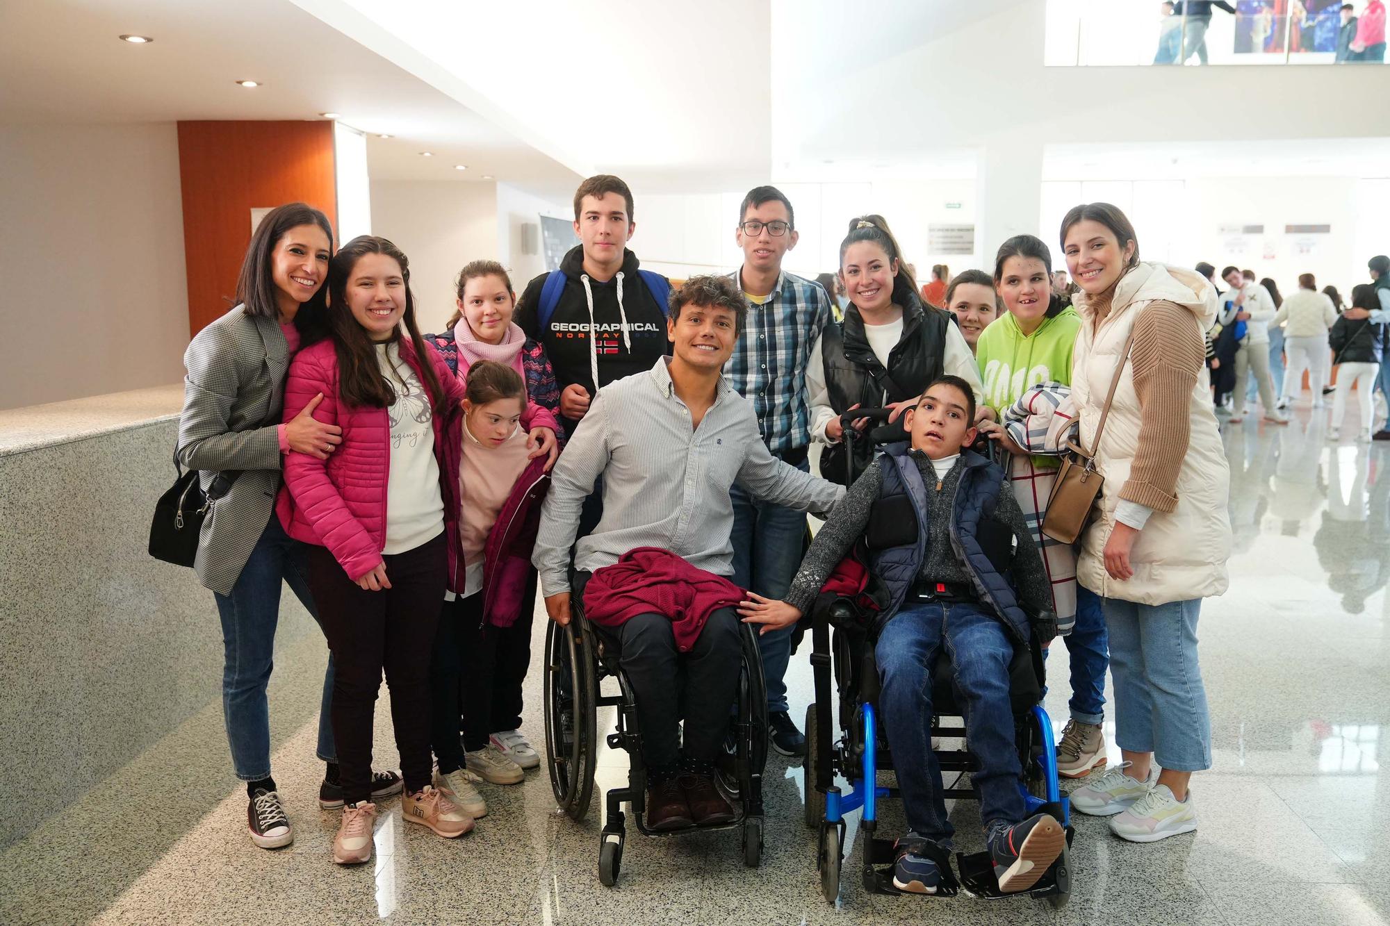
[[[420,359],[407,338],[400,359],[420,375]],[[449,591],[463,590],[459,519],[459,466],[463,460],[463,384],[439,353],[424,345],[445,391],[445,413],[434,416],[435,459],[443,498],[443,533],[449,549]],[[424,378],[421,377],[421,381]],[[331,339],[295,355],[285,378],[285,416],[299,414],[316,393],[324,400],[314,419],[342,428],[342,444],[327,460],[307,453],[285,455],[285,485],[275,510],[285,533],[307,544],[327,546],[348,577],[357,580],[382,562],[386,545],[386,487],[391,476],[391,421],[386,409],[353,407],[338,395],[338,355]]]

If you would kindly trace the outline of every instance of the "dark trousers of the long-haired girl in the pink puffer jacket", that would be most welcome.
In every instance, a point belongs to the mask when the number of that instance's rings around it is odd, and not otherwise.
[[[334,653],[334,740],[349,804],[371,799],[371,733],[382,672],[406,790],[430,784],[428,641],[448,581],[445,537],[382,559],[391,588],[366,591],[327,548],[309,548],[309,588]]]

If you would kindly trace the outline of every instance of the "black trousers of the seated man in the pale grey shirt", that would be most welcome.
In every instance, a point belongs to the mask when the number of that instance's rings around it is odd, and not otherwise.
[[[574,594],[582,596],[587,581],[588,576],[578,573]],[[621,627],[600,628],[617,638],[619,665],[637,701],[642,761],[653,772],[680,767],[682,717],[684,756],[695,762],[719,758],[742,665],[738,624],[733,608],[720,608],[687,653],[676,648],[671,619],[664,615],[638,615]]]

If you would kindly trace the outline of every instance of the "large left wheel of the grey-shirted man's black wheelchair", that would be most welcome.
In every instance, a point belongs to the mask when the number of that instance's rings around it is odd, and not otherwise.
[[[582,820],[594,797],[598,720],[594,642],[582,622],[545,631],[545,748],[559,809]]]

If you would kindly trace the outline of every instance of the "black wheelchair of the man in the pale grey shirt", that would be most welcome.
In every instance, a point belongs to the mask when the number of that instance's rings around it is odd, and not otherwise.
[[[730,716],[728,747],[717,763],[720,784],[734,806],[734,819],[719,826],[653,831],[644,823],[646,769],[642,765],[642,731],[637,723],[632,688],[619,666],[616,638],[584,617],[578,595],[571,596],[570,615],[567,626],[550,622],[545,634],[545,745],[559,811],[574,820],[582,820],[588,813],[594,797],[599,706],[617,708],[617,726],[607,734],[607,745],[624,749],[630,761],[627,787],[613,788],[606,795],[607,812],[599,836],[599,880],[613,887],[623,866],[623,843],[627,838],[624,804],[630,805],[632,820],[644,836],[739,829],[744,863],[749,868],[760,865],[767,692],[753,627],[739,626],[742,667],[735,710]],[[603,692],[607,679],[613,680],[610,694]]]

